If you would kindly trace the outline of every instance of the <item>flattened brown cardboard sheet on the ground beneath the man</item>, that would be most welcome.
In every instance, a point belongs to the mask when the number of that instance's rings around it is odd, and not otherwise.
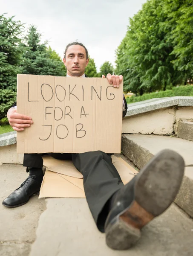
[[[112,155],[112,163],[124,184],[137,173],[121,157]],[[71,160],[56,160],[44,156],[43,164],[49,168],[46,169],[39,198],[85,198],[82,175],[78,176],[78,170]]]

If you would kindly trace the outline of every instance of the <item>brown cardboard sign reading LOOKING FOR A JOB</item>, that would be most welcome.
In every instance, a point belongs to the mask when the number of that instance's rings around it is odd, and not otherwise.
[[[17,75],[17,113],[34,122],[17,153],[120,153],[122,92],[102,78]]]

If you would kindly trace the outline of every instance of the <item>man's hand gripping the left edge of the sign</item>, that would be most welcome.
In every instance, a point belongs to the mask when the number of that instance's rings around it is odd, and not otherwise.
[[[24,128],[30,127],[33,123],[32,118],[30,116],[24,116],[17,113],[15,108],[10,108],[7,112],[7,118],[9,120],[9,124],[12,126],[14,131],[23,131]]]

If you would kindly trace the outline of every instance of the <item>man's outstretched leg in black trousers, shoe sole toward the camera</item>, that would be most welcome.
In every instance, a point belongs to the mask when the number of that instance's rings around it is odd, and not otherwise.
[[[101,151],[72,154],[72,160],[84,176],[86,199],[98,229],[105,231],[107,245],[115,250],[130,248],[140,238],[141,228],[170,206],[184,174],[183,158],[171,150],[158,153],[125,186]]]

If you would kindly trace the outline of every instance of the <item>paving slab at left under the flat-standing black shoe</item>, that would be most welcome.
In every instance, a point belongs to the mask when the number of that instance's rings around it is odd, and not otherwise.
[[[27,256],[35,241],[38,219],[46,208],[45,200],[34,195],[21,207],[7,208],[1,204],[27,176],[22,165],[0,166],[0,256]]]

